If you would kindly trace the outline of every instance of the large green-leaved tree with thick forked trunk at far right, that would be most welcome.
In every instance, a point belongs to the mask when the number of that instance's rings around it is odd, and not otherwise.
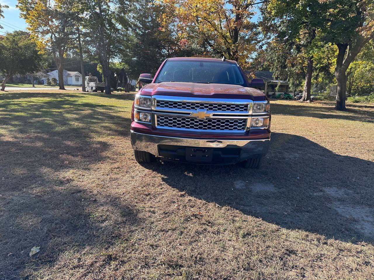
[[[373,0],[272,0],[264,4],[263,10],[273,26],[287,27],[283,28],[283,33],[289,32],[284,33],[286,38],[299,31],[315,30],[321,43],[337,46],[335,108],[345,110],[347,70],[374,37]]]

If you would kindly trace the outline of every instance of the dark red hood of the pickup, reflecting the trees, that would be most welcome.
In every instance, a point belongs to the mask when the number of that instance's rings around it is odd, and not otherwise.
[[[197,84],[185,82],[151,83],[142,87],[139,93],[146,96],[157,94],[201,98],[251,99],[254,101],[266,99],[264,93],[260,90],[229,84]]]

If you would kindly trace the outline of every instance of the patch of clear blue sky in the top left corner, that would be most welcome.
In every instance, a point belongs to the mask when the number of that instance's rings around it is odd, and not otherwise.
[[[8,9],[3,9],[4,18],[0,19],[1,26],[0,34],[4,32],[13,32],[15,30],[26,29],[27,24],[24,19],[19,17],[19,10],[16,8],[17,1],[15,0],[0,0],[1,5],[8,5]],[[6,26],[8,25],[8,26]]]

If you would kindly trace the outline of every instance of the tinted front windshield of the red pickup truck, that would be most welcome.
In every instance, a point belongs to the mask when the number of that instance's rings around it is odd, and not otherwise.
[[[246,86],[239,66],[232,63],[169,60],[162,67],[155,83],[190,82]]]

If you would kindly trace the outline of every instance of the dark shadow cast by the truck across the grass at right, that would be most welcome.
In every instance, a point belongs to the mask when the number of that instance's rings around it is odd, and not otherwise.
[[[374,163],[273,133],[261,169],[155,164],[169,186],[288,229],[374,242]]]

